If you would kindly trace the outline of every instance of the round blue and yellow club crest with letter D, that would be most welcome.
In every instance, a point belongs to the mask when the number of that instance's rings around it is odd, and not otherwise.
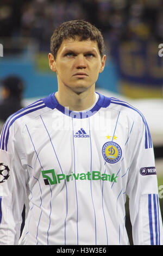
[[[115,142],[106,142],[103,145],[102,154],[106,162],[116,163],[121,159],[122,149]]]

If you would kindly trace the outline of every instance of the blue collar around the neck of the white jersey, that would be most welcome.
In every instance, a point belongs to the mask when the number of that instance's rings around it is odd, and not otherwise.
[[[68,115],[69,117],[81,119],[81,118],[91,117],[93,114],[99,111],[101,107],[106,108],[110,105],[111,98],[105,97],[100,93],[97,93],[97,94],[99,95],[99,98],[98,98],[98,101],[96,102],[96,105],[92,109],[86,112],[75,112],[65,108],[64,106],[61,106],[55,97],[55,93],[52,93],[49,96],[45,97],[44,99],[42,99],[42,101],[45,103],[47,107],[51,109],[57,108],[60,112]]]

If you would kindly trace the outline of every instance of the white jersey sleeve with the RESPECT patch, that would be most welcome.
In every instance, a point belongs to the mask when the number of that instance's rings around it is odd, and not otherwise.
[[[131,153],[127,194],[133,242],[134,245],[162,245],[162,220],[154,151],[145,119],[135,126],[132,136],[130,143],[134,149]]]

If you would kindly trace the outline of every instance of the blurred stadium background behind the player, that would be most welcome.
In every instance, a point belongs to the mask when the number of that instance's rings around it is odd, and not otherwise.
[[[90,21],[104,35],[107,62],[97,92],[128,101],[147,119],[163,214],[162,0],[1,0],[0,80],[13,74],[23,79],[24,106],[57,91],[48,67],[49,41],[61,22],[75,19]],[[129,236],[131,241],[130,229]]]

